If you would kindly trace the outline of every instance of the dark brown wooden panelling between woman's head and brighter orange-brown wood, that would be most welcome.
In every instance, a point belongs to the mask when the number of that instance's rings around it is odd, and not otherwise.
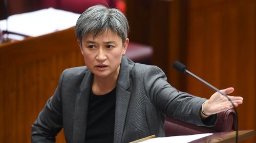
[[[154,48],[153,64],[160,67],[179,90],[184,90],[185,76],[173,70],[172,63],[185,61],[186,9],[184,1],[127,1],[129,38]]]

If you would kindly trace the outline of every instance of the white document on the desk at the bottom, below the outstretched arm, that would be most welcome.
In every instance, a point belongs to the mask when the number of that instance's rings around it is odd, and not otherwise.
[[[180,136],[169,136],[169,137],[157,137],[157,138],[151,138],[145,141],[142,141],[143,143],[187,143],[205,136],[212,135],[212,133],[203,133],[203,134],[194,134],[194,135],[180,135]]]

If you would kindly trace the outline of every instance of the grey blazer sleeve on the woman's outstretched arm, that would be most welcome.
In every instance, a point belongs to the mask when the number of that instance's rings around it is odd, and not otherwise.
[[[144,74],[143,82],[147,97],[156,108],[174,119],[178,119],[197,126],[214,126],[217,115],[201,120],[200,109],[205,98],[191,96],[173,88],[168,82],[164,72],[151,66]]]

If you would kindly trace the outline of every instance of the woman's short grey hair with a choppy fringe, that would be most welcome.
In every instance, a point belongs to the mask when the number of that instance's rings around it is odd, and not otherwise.
[[[116,33],[125,43],[129,33],[129,23],[121,11],[102,5],[90,7],[84,11],[77,19],[75,26],[75,34],[80,42],[89,33],[93,33],[93,37],[96,37],[107,30]]]

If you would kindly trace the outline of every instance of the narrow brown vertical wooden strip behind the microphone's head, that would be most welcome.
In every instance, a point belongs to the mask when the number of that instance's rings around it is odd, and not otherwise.
[[[169,28],[170,37],[166,39],[169,46],[166,56],[168,57],[168,71],[166,72],[168,82],[180,91],[185,91],[185,76],[173,68],[175,61],[185,63],[187,48],[187,7],[186,1],[170,1]],[[163,62],[164,63],[164,62]]]

